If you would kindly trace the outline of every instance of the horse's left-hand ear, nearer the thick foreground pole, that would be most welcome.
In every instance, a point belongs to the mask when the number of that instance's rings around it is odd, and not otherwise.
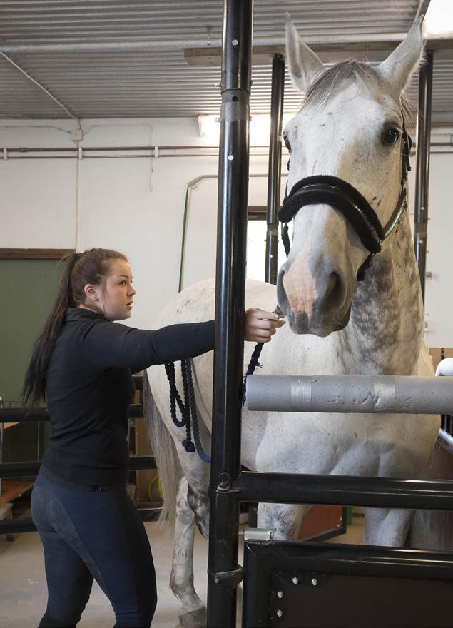
[[[310,85],[325,71],[325,66],[297,35],[289,14],[286,14],[286,56],[295,86],[306,93]]]

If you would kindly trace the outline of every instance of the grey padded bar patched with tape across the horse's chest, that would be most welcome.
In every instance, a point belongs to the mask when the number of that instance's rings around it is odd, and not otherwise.
[[[453,378],[253,375],[248,410],[453,414]]]

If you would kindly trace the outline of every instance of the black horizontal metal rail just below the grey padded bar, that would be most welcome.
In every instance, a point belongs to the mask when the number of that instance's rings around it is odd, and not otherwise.
[[[228,495],[241,502],[453,510],[453,480],[244,471]]]

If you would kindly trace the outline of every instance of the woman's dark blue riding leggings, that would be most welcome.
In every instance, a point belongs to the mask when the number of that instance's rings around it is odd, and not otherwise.
[[[72,628],[93,578],[110,600],[116,628],[148,628],[156,574],[143,522],[126,487],[83,490],[39,475],[31,515],[44,546],[49,592],[41,628]]]

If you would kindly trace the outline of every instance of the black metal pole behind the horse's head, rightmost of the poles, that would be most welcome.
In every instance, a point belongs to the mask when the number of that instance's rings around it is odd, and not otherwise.
[[[419,268],[420,283],[422,284],[423,300],[427,256],[432,61],[432,51],[428,50],[426,54],[426,61],[420,68],[417,118],[417,177],[415,180],[414,249]]]

